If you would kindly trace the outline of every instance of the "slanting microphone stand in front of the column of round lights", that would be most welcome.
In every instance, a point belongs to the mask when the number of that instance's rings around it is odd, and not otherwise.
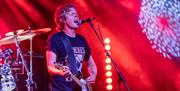
[[[93,31],[94,31],[94,33],[96,34],[96,36],[97,36],[99,42],[101,43],[101,45],[102,45],[103,47],[105,47],[105,45],[104,45],[104,43],[103,43],[102,35],[99,35],[99,34],[98,34],[98,32],[96,31],[96,29],[95,29],[95,27],[94,27],[94,24],[92,23],[92,20],[89,20],[89,21],[87,21],[87,22],[89,23],[89,25],[90,25],[91,28],[93,29]],[[127,89],[128,91],[131,91],[130,88],[129,88],[129,86],[127,85],[126,80],[124,79],[122,73],[121,73],[120,70],[118,69],[117,64],[115,63],[115,61],[114,61],[113,58],[111,57],[110,52],[107,51],[107,50],[105,50],[105,54],[106,54],[107,57],[109,57],[109,58],[111,59],[111,62],[112,62],[112,64],[113,64],[116,72],[118,73],[118,77],[119,77],[118,83],[119,83],[119,85],[121,84],[121,82],[123,82],[123,84],[125,85],[126,89]],[[120,90],[120,87],[119,87],[119,91],[121,91],[121,90]]]

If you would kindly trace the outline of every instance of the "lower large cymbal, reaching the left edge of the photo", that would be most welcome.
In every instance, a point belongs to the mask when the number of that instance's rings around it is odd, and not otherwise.
[[[26,39],[30,39],[34,36],[35,36],[35,34],[26,34],[26,35],[22,35],[22,36],[21,35],[8,36],[8,37],[2,38],[0,40],[0,45],[15,43],[16,38],[18,41],[23,41]]]

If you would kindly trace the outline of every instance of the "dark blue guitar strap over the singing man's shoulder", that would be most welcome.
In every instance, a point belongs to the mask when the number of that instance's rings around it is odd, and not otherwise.
[[[63,34],[63,36],[61,37],[61,41],[65,47],[66,55],[68,57],[67,58],[68,59],[68,65],[70,66],[70,70],[71,70],[72,74],[74,74],[74,75],[78,74],[76,59],[74,56],[74,51],[72,49],[71,42],[70,42],[68,36]]]

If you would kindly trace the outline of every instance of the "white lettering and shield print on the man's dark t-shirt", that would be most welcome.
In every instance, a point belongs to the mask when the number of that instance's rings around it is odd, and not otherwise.
[[[73,47],[74,56],[76,59],[77,64],[77,71],[81,72],[82,69],[82,61],[84,59],[85,55],[85,48],[84,47]]]

